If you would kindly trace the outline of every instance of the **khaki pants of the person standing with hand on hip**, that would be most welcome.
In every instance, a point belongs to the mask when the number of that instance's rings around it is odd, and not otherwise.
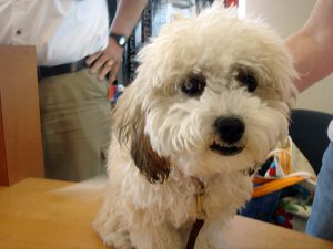
[[[107,81],[82,70],[42,79],[39,89],[46,176],[78,181],[104,173],[111,127]]]

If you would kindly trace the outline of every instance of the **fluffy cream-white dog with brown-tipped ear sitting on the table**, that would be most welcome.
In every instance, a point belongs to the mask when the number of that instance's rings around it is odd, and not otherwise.
[[[260,20],[213,7],[163,27],[139,61],[115,108],[94,229],[117,249],[184,249],[202,208],[195,248],[219,248],[251,197],[249,172],[287,134],[292,59]]]

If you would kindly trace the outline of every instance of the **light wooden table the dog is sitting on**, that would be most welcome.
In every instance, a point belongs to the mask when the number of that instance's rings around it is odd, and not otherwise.
[[[71,183],[27,178],[0,188],[0,248],[105,248],[91,228],[101,199],[54,193],[69,185]],[[329,241],[238,216],[221,236],[226,249],[333,249]]]

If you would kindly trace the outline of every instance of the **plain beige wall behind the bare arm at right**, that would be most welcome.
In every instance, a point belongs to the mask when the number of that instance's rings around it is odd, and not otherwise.
[[[302,27],[315,0],[241,0],[246,15],[261,15],[283,37]],[[297,108],[333,114],[333,74],[301,93]]]

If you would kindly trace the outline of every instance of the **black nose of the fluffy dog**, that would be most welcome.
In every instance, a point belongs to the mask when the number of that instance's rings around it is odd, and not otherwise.
[[[244,123],[236,117],[219,117],[214,126],[220,138],[229,144],[241,139],[245,131]]]

